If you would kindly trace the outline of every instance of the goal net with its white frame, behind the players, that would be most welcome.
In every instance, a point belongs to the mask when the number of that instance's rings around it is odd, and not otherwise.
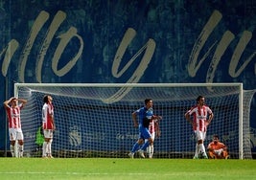
[[[21,118],[24,155],[31,157],[41,157],[38,132],[44,95],[53,97],[55,107],[55,157],[128,158],[138,138],[131,113],[151,98],[154,114],[163,117],[154,158],[192,158],[196,140],[184,114],[202,95],[215,115],[204,145],[218,134],[231,158],[252,158],[249,109],[253,93],[245,92],[242,83],[15,83],[14,96],[28,100]]]

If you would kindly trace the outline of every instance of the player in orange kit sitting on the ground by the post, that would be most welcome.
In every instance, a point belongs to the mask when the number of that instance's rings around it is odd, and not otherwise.
[[[219,136],[214,135],[213,141],[208,145],[208,156],[211,159],[227,159],[229,157],[227,147],[220,142]]]

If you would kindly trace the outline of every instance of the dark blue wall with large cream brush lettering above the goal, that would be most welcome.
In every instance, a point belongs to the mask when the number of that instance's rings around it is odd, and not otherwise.
[[[255,89],[255,11],[244,0],[0,0],[0,100],[12,96],[14,82],[244,82]],[[0,128],[4,149],[5,121]]]

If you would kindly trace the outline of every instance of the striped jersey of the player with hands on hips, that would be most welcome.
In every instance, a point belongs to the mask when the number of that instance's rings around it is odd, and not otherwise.
[[[207,117],[208,115],[213,113],[210,107],[207,105],[203,105],[202,107],[197,105],[192,107],[187,113],[193,116],[193,123],[197,124],[193,126],[193,130],[205,132],[206,131],[205,123],[207,121]]]

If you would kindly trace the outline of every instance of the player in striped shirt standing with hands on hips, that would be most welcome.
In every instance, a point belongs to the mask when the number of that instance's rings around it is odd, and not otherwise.
[[[207,126],[213,120],[214,115],[210,107],[204,104],[204,97],[198,96],[197,102],[197,105],[193,106],[186,112],[185,118],[190,124],[192,124],[198,140],[194,159],[198,159],[199,153],[202,154],[203,158],[207,159],[208,157],[205,151],[205,146],[203,145],[203,141],[206,137]],[[191,116],[193,116],[193,119],[191,119]]]

